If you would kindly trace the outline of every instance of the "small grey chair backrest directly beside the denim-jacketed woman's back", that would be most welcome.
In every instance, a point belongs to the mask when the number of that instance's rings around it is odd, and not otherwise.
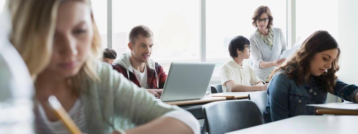
[[[263,114],[267,105],[267,91],[252,92],[248,94],[248,99],[254,102],[258,109],[260,109],[261,114]]]

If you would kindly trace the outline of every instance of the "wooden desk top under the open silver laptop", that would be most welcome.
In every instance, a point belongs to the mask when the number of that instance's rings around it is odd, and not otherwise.
[[[187,105],[187,104],[214,102],[214,101],[220,101],[220,100],[226,100],[226,98],[225,97],[205,97],[203,99],[168,101],[165,103],[168,103],[170,105]]]

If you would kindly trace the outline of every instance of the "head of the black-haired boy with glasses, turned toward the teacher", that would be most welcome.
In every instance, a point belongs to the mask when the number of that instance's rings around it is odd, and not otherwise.
[[[250,41],[244,36],[236,36],[229,43],[229,54],[231,58],[250,58]]]

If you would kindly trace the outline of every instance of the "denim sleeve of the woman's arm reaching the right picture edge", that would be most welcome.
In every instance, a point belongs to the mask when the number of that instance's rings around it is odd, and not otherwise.
[[[357,98],[358,87],[357,85],[349,85],[343,81],[337,80],[336,86],[334,88],[334,95],[348,100],[351,102],[358,102]]]

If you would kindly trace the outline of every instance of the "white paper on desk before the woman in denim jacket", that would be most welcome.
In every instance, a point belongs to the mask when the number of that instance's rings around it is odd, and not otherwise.
[[[315,106],[323,109],[344,109],[344,110],[358,110],[356,103],[327,103],[327,104],[310,104],[308,106]]]

